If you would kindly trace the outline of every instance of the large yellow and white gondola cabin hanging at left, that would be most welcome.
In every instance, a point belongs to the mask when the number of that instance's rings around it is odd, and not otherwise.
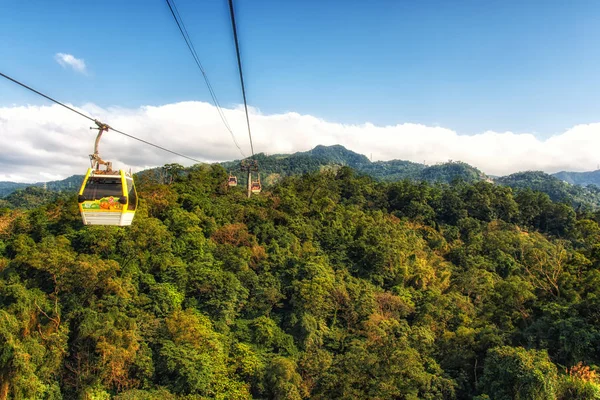
[[[138,199],[130,174],[90,168],[78,201],[84,225],[128,226],[133,221]]]

